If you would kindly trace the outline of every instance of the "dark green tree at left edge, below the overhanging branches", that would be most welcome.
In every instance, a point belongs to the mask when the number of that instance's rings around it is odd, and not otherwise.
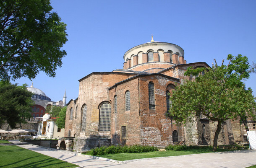
[[[26,90],[26,85],[17,86],[9,82],[0,82],[0,124],[5,121],[11,128],[16,124],[26,123],[31,117],[32,93]]]

